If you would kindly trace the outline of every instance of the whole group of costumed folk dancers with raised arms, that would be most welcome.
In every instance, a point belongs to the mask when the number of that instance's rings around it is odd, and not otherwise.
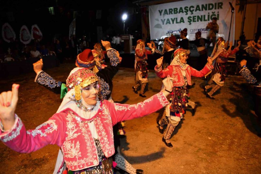
[[[239,50],[240,42],[231,50],[232,43],[222,37],[216,40],[211,57],[207,56],[204,39],[201,33],[196,33],[196,40],[186,39],[187,30],[181,31],[182,41],[175,36],[165,39],[163,51],[157,50],[152,43],[147,43],[151,50],[145,49],[143,40],[137,41],[135,50],[135,93],[141,88],[140,96],[146,97],[145,86],[148,83],[148,54],[160,56],[155,64],[155,73],[162,78],[162,89],[159,93],[147,98],[144,102],[133,105],[114,103],[111,97],[112,79],[117,73],[122,58],[117,50],[111,48],[110,42],[102,41],[96,49],[86,49],[77,55],[74,68],[66,81],[57,81],[42,70],[43,62],[34,64],[37,73],[35,82],[54,93],[61,94],[61,105],[48,121],[34,130],[26,128],[15,109],[18,101],[18,84],[13,84],[12,91],[0,95],[1,141],[12,150],[20,153],[30,153],[48,144],[60,147],[54,173],[75,174],[113,174],[114,168],[120,168],[127,173],[143,173],[129,164],[119,151],[119,124],[122,121],[142,117],[161,108],[162,118],[157,121],[162,141],[168,147],[173,147],[170,137],[186,113],[187,106],[195,108],[190,100],[189,86],[193,84],[191,76],[204,77],[209,74],[208,85],[204,86],[206,97],[214,99],[213,94],[224,86],[226,62],[231,54]],[[202,70],[196,70],[186,64],[190,56],[187,44],[196,44],[200,53]],[[228,48],[227,48],[228,47]],[[97,49],[99,48],[99,49]],[[254,56],[259,56],[260,41],[251,42],[247,50]],[[109,58],[105,64],[104,55]],[[213,62],[215,63],[213,64]],[[249,83],[253,83],[260,94],[260,79],[251,75],[246,67],[246,61],[241,62],[240,73]],[[255,67],[260,72],[260,61]],[[260,78],[260,77],[259,77]],[[209,90],[209,91],[208,91]],[[260,104],[260,97],[256,98]],[[258,113],[258,109],[255,110]],[[260,114],[260,113],[259,113]],[[166,126],[165,126],[166,125]],[[156,125],[155,125],[156,126]],[[164,127],[165,130],[164,130]]]

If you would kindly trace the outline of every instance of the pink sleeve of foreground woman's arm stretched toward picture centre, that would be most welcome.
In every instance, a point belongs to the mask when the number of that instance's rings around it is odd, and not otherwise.
[[[168,105],[169,102],[164,96],[163,92],[157,93],[152,97],[144,100],[137,104],[119,104],[109,103],[109,110],[113,125],[124,120],[130,120],[138,117],[149,115],[157,110],[160,110],[164,106]]]

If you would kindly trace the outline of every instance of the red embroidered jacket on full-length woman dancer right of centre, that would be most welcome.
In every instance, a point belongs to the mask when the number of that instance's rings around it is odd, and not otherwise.
[[[157,76],[160,78],[165,78],[165,77],[167,77],[167,75],[170,75],[171,77],[173,77],[174,86],[183,86],[185,84],[185,81],[184,81],[184,78],[183,78],[183,75],[181,72],[181,68],[179,65],[170,65],[164,70],[162,70],[162,67],[157,68],[157,65],[156,65],[154,69],[156,71]],[[192,68],[191,66],[189,66],[188,64],[186,64],[185,72],[186,72],[188,84],[191,85],[191,75],[195,76],[195,77],[203,77],[204,75],[209,73],[209,71],[211,71],[212,69],[213,69],[213,66],[206,64],[206,66],[204,66],[204,68],[202,70],[198,71],[198,70]]]

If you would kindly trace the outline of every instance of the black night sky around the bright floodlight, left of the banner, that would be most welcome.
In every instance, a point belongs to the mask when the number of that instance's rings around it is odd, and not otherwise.
[[[92,2],[92,4],[95,2]],[[125,29],[128,34],[141,33],[140,8],[132,1],[108,1],[97,2],[91,6],[89,1],[71,0],[28,0],[28,1],[1,1],[0,2],[1,26],[8,22],[19,39],[19,30],[26,25],[30,30],[33,24],[37,24],[44,36],[42,42],[47,42],[54,35],[57,37],[68,36],[69,25],[76,16],[76,37],[86,35],[97,40],[97,27],[102,26],[103,35],[110,36],[123,34],[122,14],[126,12],[128,19]],[[49,10],[53,7],[54,14]],[[97,10],[102,10],[101,19],[96,19]],[[75,11],[77,11],[75,13]],[[136,32],[137,31],[137,32]],[[93,41],[96,42],[96,41]]]

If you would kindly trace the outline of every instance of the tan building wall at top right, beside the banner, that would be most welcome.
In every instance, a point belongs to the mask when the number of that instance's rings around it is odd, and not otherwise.
[[[235,6],[235,40],[238,40],[242,32],[244,12],[238,12],[239,5]],[[247,40],[254,39],[257,32],[258,18],[261,17],[261,3],[247,4],[244,34]]]

